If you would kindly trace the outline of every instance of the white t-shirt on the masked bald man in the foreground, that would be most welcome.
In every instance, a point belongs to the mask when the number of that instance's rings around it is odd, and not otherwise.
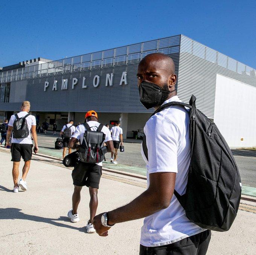
[[[181,102],[178,96],[174,96],[163,104],[172,101]],[[177,173],[175,190],[183,195],[190,165],[189,112],[183,106],[166,108],[147,121],[144,132],[149,160],[143,149],[142,157],[146,162],[148,186],[151,173]],[[168,208],[145,218],[140,243],[144,246],[166,245],[204,230],[187,219],[183,207],[173,195]]]

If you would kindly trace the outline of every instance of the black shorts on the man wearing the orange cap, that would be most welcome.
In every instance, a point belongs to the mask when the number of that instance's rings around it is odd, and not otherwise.
[[[99,188],[99,181],[102,175],[102,166],[88,164],[79,161],[72,171],[73,184],[76,186],[87,186]]]

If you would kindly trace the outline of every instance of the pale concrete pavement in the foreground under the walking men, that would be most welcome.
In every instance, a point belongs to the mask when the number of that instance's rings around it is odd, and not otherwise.
[[[0,151],[0,162],[1,254],[138,254],[142,219],[114,226],[105,238],[84,232],[89,213],[86,188],[79,206],[81,221],[69,222],[66,214],[73,191],[70,169],[53,160],[34,158],[27,176],[28,191],[13,193],[10,154]],[[123,205],[145,190],[133,185],[133,180],[103,177],[98,212]],[[129,181],[131,184],[125,183]],[[141,186],[144,184],[142,181]],[[212,233],[207,254],[256,254],[255,229],[256,214],[239,210],[230,231]]]

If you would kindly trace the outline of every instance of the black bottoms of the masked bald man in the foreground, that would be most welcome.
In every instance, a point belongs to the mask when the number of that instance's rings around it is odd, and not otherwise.
[[[157,247],[140,244],[140,255],[205,255],[211,239],[211,231],[184,238],[175,243]]]

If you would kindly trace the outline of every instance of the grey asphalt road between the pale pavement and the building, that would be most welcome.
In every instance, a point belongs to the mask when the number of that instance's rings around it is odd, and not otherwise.
[[[52,156],[62,157],[62,150],[54,149],[54,142],[56,136],[52,135],[38,135],[38,144],[40,146],[40,153]],[[106,167],[123,169],[127,168],[129,172],[136,172],[145,175],[145,163],[140,153],[140,143],[125,143],[125,152],[119,152],[117,158],[117,165],[104,164]],[[256,188],[256,150],[232,150],[243,185]],[[106,154],[107,162],[110,161],[110,153]],[[130,168],[130,169],[128,169]]]

